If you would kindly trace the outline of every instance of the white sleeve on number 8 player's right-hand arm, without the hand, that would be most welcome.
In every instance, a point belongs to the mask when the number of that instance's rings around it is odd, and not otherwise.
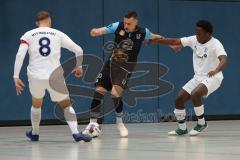
[[[74,43],[71,38],[69,38],[66,34],[62,33],[61,37],[61,46],[63,48],[68,49],[71,52],[75,53],[76,56],[76,66],[82,66],[83,61],[83,50],[80,46]]]

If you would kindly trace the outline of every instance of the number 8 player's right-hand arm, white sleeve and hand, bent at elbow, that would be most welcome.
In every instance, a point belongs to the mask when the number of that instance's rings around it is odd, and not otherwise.
[[[63,33],[61,46],[63,48],[68,49],[69,51],[75,53],[76,56],[76,68],[73,69],[72,73],[75,74],[76,77],[81,77],[83,75],[82,62],[83,62],[83,49],[74,43],[71,38],[69,38],[66,34]]]

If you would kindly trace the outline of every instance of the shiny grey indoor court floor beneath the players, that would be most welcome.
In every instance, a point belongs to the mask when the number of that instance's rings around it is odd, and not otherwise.
[[[240,160],[240,121],[208,123],[198,137],[168,137],[173,122],[127,124],[129,138],[119,138],[115,125],[105,125],[90,143],[73,142],[68,126],[41,127],[40,142],[25,138],[29,127],[1,127],[0,160]]]

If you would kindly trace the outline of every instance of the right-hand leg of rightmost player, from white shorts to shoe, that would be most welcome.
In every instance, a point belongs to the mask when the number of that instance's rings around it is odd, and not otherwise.
[[[194,111],[198,118],[198,122],[197,125],[190,131],[190,135],[198,135],[207,128],[207,123],[204,118],[204,105],[202,99],[217,90],[221,85],[221,81],[222,80],[219,80],[216,77],[206,78],[192,91],[191,100],[194,105]]]

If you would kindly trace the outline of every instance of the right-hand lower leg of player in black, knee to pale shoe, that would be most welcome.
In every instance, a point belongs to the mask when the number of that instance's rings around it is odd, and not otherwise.
[[[118,85],[113,85],[111,95],[116,111],[116,124],[117,128],[119,130],[120,136],[121,137],[127,137],[128,136],[128,130],[124,126],[123,123],[123,102],[121,100],[121,96],[123,93],[124,89],[121,86]]]

